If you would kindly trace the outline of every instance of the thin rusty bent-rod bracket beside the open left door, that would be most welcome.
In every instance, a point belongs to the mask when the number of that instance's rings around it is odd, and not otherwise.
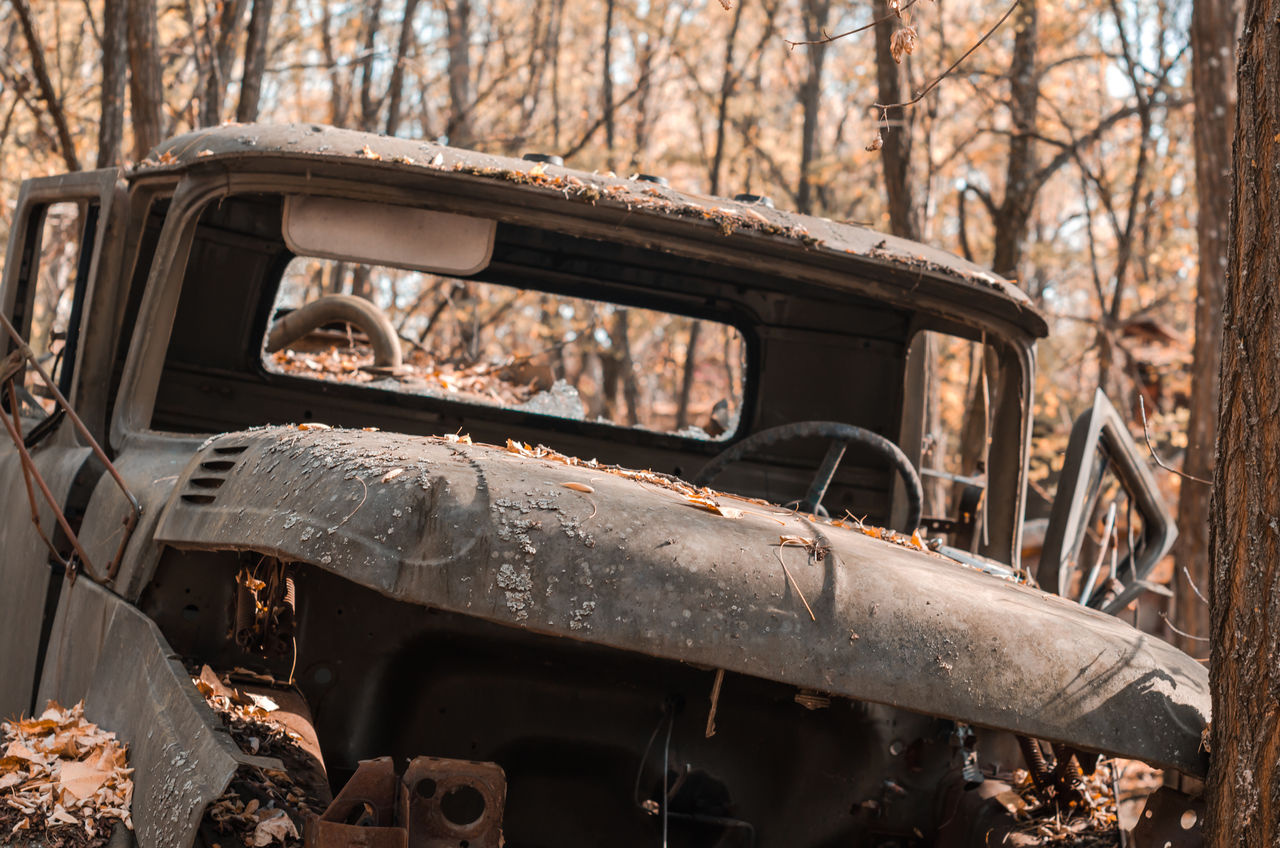
[[[18,459],[22,464],[23,482],[27,484],[27,501],[31,505],[31,520],[36,525],[36,532],[40,534],[40,538],[44,539],[45,544],[54,553],[54,556],[58,557],[59,561],[61,561],[67,567],[68,579],[74,580],[76,564],[72,561],[63,561],[58,548],[50,541],[45,529],[40,525],[40,511],[36,506],[35,492],[32,491],[32,482],[35,482],[36,487],[40,488],[41,494],[45,496],[45,501],[49,503],[50,509],[52,509],[54,518],[58,520],[58,526],[60,526],[63,533],[67,535],[72,550],[79,559],[84,571],[90,575],[90,579],[96,583],[105,583],[110,585],[120,570],[120,560],[124,557],[124,547],[129,543],[133,528],[137,526],[138,519],[142,516],[142,505],[138,503],[138,498],[129,492],[129,487],[125,485],[124,478],[120,477],[115,465],[111,464],[111,460],[106,456],[106,451],[102,450],[102,446],[99,444],[97,439],[95,439],[92,433],[88,432],[84,421],[82,421],[79,415],[76,414],[76,410],[72,409],[70,402],[63,397],[63,393],[58,389],[58,384],[54,383],[52,378],[50,378],[45,369],[40,366],[40,363],[36,361],[36,354],[27,346],[27,342],[23,341],[22,336],[3,313],[0,313],[0,327],[3,327],[9,334],[9,339],[13,343],[13,350],[4,360],[4,364],[0,365],[0,386],[4,387],[9,396],[9,412],[12,415],[12,420],[10,416],[0,415],[0,421],[4,423],[4,428],[9,433],[9,438],[13,439],[14,447],[18,450]],[[79,537],[76,535],[74,530],[72,530],[67,516],[63,514],[61,505],[54,497],[52,492],[49,491],[49,485],[40,475],[40,469],[36,468],[35,461],[31,459],[31,451],[27,448],[23,439],[22,420],[18,416],[18,392],[15,382],[23,375],[28,365],[40,375],[40,379],[45,383],[45,388],[49,389],[58,404],[58,409],[60,409],[61,412],[70,419],[72,424],[76,427],[76,432],[79,433],[84,444],[93,451],[93,456],[96,456],[102,464],[106,473],[111,475],[111,479],[115,480],[115,484],[120,488],[120,492],[129,503],[129,514],[124,516],[124,520],[122,521],[124,532],[120,537],[120,544],[115,550],[115,556],[111,557],[111,562],[106,566],[105,574],[99,573],[93,567],[92,562],[90,562],[88,555],[84,553],[84,548],[81,546]]]

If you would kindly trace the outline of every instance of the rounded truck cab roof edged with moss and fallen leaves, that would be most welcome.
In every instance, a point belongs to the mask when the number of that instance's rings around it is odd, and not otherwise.
[[[760,202],[678,191],[669,186],[612,173],[591,173],[509,156],[449,147],[321,124],[223,124],[177,136],[152,150],[129,177],[156,170],[186,170],[229,161],[274,160],[312,164],[347,160],[390,170],[454,173],[463,178],[506,181],[513,187],[557,195],[572,202],[621,206],[628,215],[684,218],[710,224],[717,237],[772,238],[828,257],[856,256],[863,265],[897,272],[913,288],[986,310],[1034,338],[1048,334],[1043,314],[1012,282],[945,250],[858,224],[772,209]],[[920,293],[925,293],[920,291]]]

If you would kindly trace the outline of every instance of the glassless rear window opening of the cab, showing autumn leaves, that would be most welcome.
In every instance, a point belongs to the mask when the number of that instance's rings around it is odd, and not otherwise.
[[[340,322],[280,350],[268,345],[269,373],[696,439],[737,428],[745,342],[727,324],[298,256],[276,289],[268,334],[291,311],[334,295],[364,297],[390,319],[403,348],[397,373],[376,364],[367,333]]]

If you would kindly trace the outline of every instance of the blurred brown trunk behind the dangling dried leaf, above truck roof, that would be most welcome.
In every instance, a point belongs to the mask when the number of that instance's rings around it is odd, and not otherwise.
[[[872,14],[879,22],[876,24],[876,81],[879,87],[879,102],[902,102],[910,91],[906,64],[893,61],[891,41],[893,31],[902,26],[895,15],[890,17],[888,0],[876,0]],[[884,192],[888,196],[890,232],[914,241],[920,238],[920,210],[915,202],[915,188],[911,179],[911,115],[910,108],[887,109],[883,120],[888,127],[881,129],[883,146],[881,163],[884,165]]]

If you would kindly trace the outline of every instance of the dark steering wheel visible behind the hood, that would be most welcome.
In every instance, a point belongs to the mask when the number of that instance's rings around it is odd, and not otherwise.
[[[800,501],[803,511],[817,512],[822,505],[823,496],[827,493],[827,487],[831,485],[832,478],[836,477],[836,469],[840,466],[840,460],[845,456],[845,448],[850,444],[863,444],[887,459],[906,485],[906,525],[902,528],[904,532],[911,533],[920,524],[920,512],[924,509],[924,489],[920,487],[920,475],[916,474],[911,460],[906,459],[902,448],[883,436],[842,421],[792,421],[791,424],[781,424],[760,430],[759,433],[753,433],[741,442],[713,456],[698,471],[692,482],[696,485],[707,485],[731,462],[736,462],[744,456],[771,444],[799,438],[831,439],[827,455],[822,459],[818,473],[809,483],[808,493]]]

